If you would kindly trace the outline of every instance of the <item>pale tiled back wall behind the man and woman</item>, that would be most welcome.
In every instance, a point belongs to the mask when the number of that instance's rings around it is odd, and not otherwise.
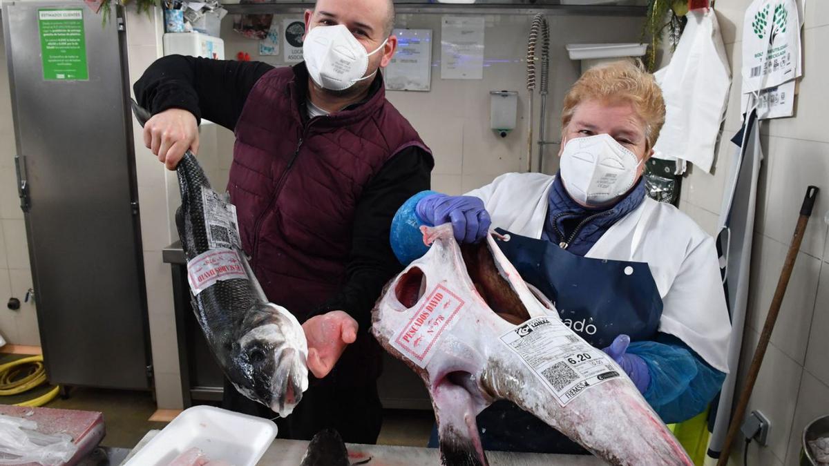
[[[297,15],[296,17],[298,17]],[[274,17],[281,25],[283,17]],[[524,15],[487,15],[484,60],[487,66],[483,80],[440,79],[440,15],[400,14],[397,27],[431,29],[432,81],[429,92],[390,91],[386,95],[392,104],[414,126],[424,142],[432,148],[435,167],[432,188],[459,194],[492,181],[504,172],[523,171],[526,168],[526,36],[531,17]],[[639,17],[547,17],[550,22],[550,95],[547,97],[546,127],[549,140],[557,141],[560,134],[559,114],[566,90],[579,76],[579,62],[570,61],[565,51],[567,43],[638,41],[642,27]],[[252,60],[262,60],[274,66],[283,66],[282,56],[259,56],[257,41],[245,39],[232,30],[232,17],[222,22],[225,56],[234,58],[239,51],[250,54]],[[489,127],[489,91],[516,90],[519,92],[517,127],[507,138],[501,138]],[[536,94],[534,136],[538,135]],[[217,129],[220,148],[219,164],[214,185],[223,186],[225,167],[230,166],[233,134]],[[558,169],[558,145],[545,148],[545,172]],[[537,160],[537,156],[534,155]]]

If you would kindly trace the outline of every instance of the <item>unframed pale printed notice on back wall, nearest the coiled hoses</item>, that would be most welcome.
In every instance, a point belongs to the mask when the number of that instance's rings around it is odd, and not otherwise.
[[[444,80],[483,79],[483,17],[441,19],[440,77]]]

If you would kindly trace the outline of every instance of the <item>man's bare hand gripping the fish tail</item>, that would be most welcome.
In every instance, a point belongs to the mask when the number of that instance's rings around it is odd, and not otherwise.
[[[168,109],[153,115],[144,124],[144,145],[168,170],[175,170],[187,149],[194,154],[199,150],[196,117],[183,109]]]

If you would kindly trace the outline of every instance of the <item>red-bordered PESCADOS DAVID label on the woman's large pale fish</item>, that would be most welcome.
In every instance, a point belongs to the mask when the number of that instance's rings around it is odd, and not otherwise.
[[[454,322],[465,302],[457,294],[439,284],[424,299],[417,313],[397,334],[393,346],[415,364],[425,367],[440,336]]]

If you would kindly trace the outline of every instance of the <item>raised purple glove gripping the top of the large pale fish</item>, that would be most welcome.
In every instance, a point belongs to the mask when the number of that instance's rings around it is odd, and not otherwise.
[[[458,243],[477,243],[492,225],[483,201],[474,196],[430,194],[418,201],[414,211],[429,226],[451,222]]]

